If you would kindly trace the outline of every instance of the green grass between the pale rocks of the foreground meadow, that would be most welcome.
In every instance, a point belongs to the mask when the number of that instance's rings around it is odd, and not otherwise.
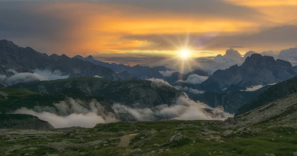
[[[211,121],[203,121],[211,122]],[[206,125],[208,129],[219,131],[223,133],[224,130],[216,128],[215,121]],[[180,124],[193,124],[196,127],[183,127],[177,130]],[[281,124],[281,123],[280,123]],[[292,156],[297,151],[297,128],[294,127],[270,127],[272,124],[259,124],[251,128],[262,128],[261,133],[258,134],[246,134],[236,137],[220,138],[224,143],[217,142],[216,139],[205,138],[196,135],[201,132],[201,129],[206,126],[201,125],[201,121],[151,121],[151,122],[116,122],[107,124],[98,124],[94,128],[75,128],[75,138],[70,139],[68,135],[63,134],[48,134],[48,140],[40,140],[38,137],[31,135],[30,140],[16,140],[14,142],[6,142],[12,137],[20,137],[17,134],[15,136],[7,137],[6,135],[0,135],[0,151],[6,151],[8,147],[15,145],[27,145],[21,149],[17,149],[14,152],[10,152],[8,156],[17,156],[20,154],[29,153],[31,156],[40,156],[49,154],[57,154],[59,156],[134,156],[131,150],[140,148],[141,154],[150,154],[150,156],[265,156],[265,154],[274,154],[276,156]],[[68,128],[71,129],[71,128]],[[127,134],[135,133],[135,129],[138,129],[137,135],[131,140],[128,147],[116,147],[112,143],[118,143],[120,136],[118,131],[125,131]],[[148,134],[151,129],[156,130],[153,134]],[[52,131],[66,131],[67,129],[54,129]],[[182,140],[181,142],[174,142],[169,145],[163,145],[173,135],[181,133],[189,138]],[[91,134],[92,137],[88,137]],[[220,137],[221,134],[213,134],[214,137]],[[25,137],[25,136],[23,136]],[[28,135],[26,136],[28,137]],[[84,146],[84,143],[78,143],[78,138],[82,137],[85,143],[102,140],[96,145]],[[108,141],[108,138],[117,138],[112,141]],[[143,139],[142,139],[143,138]],[[147,140],[146,140],[147,139]],[[59,151],[54,147],[51,147],[50,143],[58,143],[67,140],[72,143],[73,146],[66,147],[63,151]],[[195,141],[195,143],[193,143]],[[39,142],[36,144],[36,142]],[[30,145],[32,144],[32,145]],[[109,144],[108,147],[103,147],[104,144]],[[160,145],[154,147],[154,144]],[[49,146],[47,146],[49,145]],[[95,146],[98,146],[96,149]],[[35,147],[36,150],[29,151],[29,148]],[[163,152],[159,153],[162,149]],[[169,149],[169,151],[165,151]],[[154,154],[151,152],[154,151]],[[215,153],[215,154],[214,154]],[[138,155],[136,155],[138,156]]]

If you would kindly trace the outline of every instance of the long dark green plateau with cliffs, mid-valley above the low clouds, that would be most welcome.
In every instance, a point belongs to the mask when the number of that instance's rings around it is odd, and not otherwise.
[[[171,86],[157,86],[148,80],[109,81],[103,78],[70,78],[21,83],[11,87],[46,94],[64,94],[70,97],[101,97],[112,103],[128,106],[139,103],[139,108],[170,105],[176,98],[184,95],[182,91]]]

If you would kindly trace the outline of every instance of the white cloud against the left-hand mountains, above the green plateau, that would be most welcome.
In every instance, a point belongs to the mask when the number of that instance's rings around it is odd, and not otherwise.
[[[11,72],[13,71],[14,70],[11,70]],[[34,73],[17,73],[9,78],[7,78],[6,76],[5,76],[6,78],[4,76],[1,76],[1,77],[5,78],[3,82],[6,83],[7,85],[14,85],[18,83],[25,83],[25,82],[31,82],[31,81],[69,78],[69,75],[62,75],[62,73],[59,70],[55,70],[51,72],[48,69],[45,69],[45,70],[35,69],[33,70],[33,72]]]

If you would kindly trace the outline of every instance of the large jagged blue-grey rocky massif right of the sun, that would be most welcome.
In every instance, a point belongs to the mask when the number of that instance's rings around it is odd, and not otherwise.
[[[295,76],[297,70],[290,62],[252,54],[242,66],[234,65],[229,69],[216,71],[201,83],[201,88],[216,92],[221,92],[230,86],[245,89],[255,85],[278,83]]]

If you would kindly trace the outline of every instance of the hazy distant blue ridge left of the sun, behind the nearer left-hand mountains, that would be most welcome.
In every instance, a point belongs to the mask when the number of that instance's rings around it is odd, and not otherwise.
[[[119,73],[126,71],[126,72],[128,72],[138,78],[141,78],[141,79],[163,78],[163,76],[159,73],[159,71],[168,70],[164,66],[148,67],[148,66],[136,65],[136,66],[130,67],[130,66],[125,66],[123,64],[119,64],[119,65],[115,64],[115,63],[109,64],[106,62],[95,60],[93,56],[88,56],[88,57],[84,58],[80,55],[76,55],[73,58],[81,59],[84,61],[89,61],[95,65],[106,67],[106,68],[109,68],[109,69],[111,69],[115,72],[119,72]]]

